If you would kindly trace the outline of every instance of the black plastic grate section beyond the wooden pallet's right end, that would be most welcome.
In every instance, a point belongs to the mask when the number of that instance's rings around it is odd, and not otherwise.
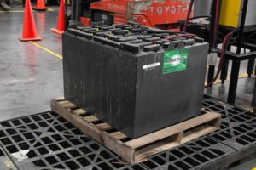
[[[209,134],[213,139],[236,150],[256,144],[256,116],[252,112],[207,96],[203,101],[203,107],[206,111],[217,111],[222,114],[220,130]]]

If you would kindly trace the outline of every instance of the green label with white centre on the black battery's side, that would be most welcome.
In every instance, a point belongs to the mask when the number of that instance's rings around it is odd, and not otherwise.
[[[186,70],[188,53],[188,48],[166,51],[164,53],[163,74]]]

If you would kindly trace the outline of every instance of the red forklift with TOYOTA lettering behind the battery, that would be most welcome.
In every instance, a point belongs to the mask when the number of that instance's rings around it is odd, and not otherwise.
[[[164,30],[177,29],[190,0],[73,0],[71,23],[84,26],[126,24],[128,21]]]

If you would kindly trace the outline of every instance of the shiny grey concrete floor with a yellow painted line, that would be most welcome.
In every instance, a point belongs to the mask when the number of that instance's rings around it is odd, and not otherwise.
[[[49,111],[50,99],[63,95],[61,37],[49,28],[56,23],[57,11],[34,12],[41,42],[20,42],[23,13],[19,7],[5,13],[0,8],[0,121]],[[18,11],[18,12],[17,12]],[[247,62],[241,65],[245,73]],[[241,78],[236,105],[251,110],[254,78]],[[229,82],[206,89],[206,94],[226,100]],[[256,159],[238,169],[256,167]]]

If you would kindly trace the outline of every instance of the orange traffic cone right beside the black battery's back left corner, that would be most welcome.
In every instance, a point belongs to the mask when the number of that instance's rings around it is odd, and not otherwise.
[[[65,31],[65,2],[64,2],[64,0],[61,0],[61,3],[60,3],[57,28],[51,28],[50,30],[57,34],[60,34],[60,35]]]

